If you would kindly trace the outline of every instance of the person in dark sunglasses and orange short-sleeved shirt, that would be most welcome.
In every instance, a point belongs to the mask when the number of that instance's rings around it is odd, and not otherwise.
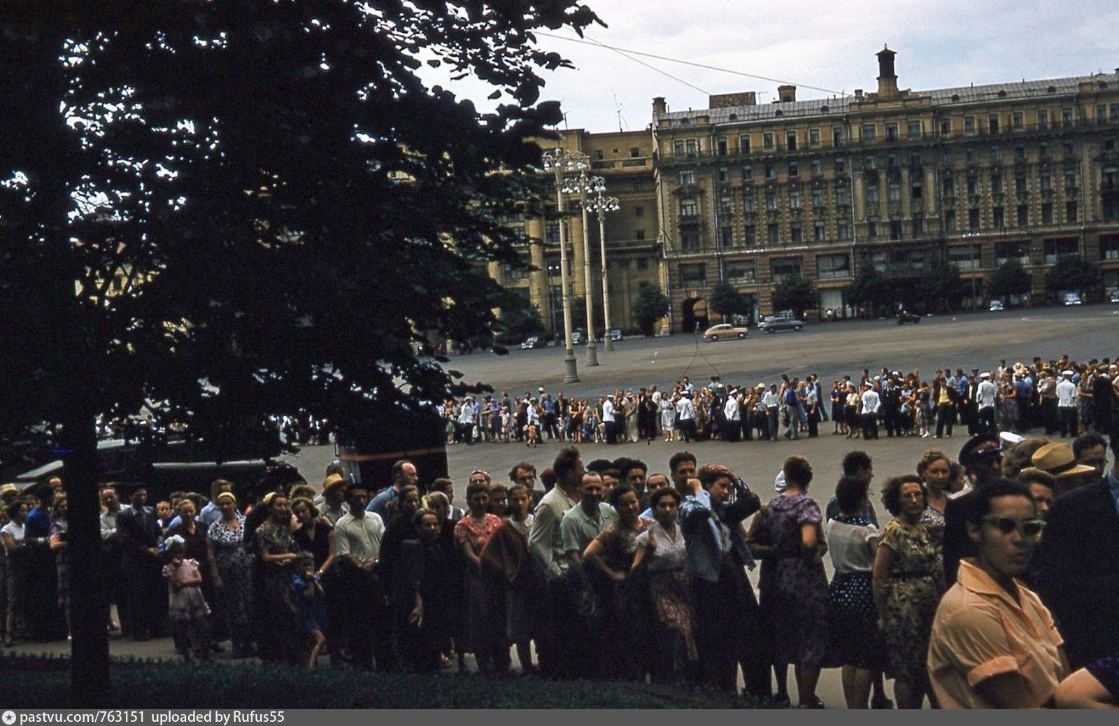
[[[1053,616],[1018,579],[1044,527],[1022,482],[996,479],[975,490],[967,529],[976,556],[960,562],[929,643],[941,708],[1038,708],[1069,675]]]

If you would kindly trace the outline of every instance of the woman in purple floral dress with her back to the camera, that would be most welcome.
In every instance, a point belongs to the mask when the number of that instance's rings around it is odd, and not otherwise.
[[[824,572],[824,519],[808,497],[812,468],[803,456],[784,460],[786,489],[758,512],[750,528],[751,549],[772,563],[762,577],[760,600],[771,633],[780,682],[793,664],[800,705],[824,708],[816,683],[828,648],[828,578]]]

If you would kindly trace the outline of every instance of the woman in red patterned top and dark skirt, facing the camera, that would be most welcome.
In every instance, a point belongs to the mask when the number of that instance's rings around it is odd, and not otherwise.
[[[504,623],[492,616],[488,588],[482,579],[482,547],[501,526],[501,518],[489,513],[489,484],[473,482],[467,487],[470,510],[454,526],[454,544],[466,562],[463,596],[467,602],[469,650],[478,661],[478,672],[496,667],[508,668],[509,649],[505,642]]]

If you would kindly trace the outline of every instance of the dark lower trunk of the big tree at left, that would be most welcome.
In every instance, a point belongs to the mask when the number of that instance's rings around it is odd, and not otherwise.
[[[75,402],[63,424],[63,481],[66,483],[70,607],[70,705],[103,708],[110,700],[109,594],[101,545],[101,502],[97,496],[95,416]]]

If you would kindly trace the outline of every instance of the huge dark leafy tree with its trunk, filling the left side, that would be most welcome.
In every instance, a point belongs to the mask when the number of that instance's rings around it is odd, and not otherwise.
[[[521,264],[499,219],[536,198],[526,139],[562,119],[538,72],[567,65],[533,30],[594,20],[577,0],[3,6],[0,436],[59,431],[90,598],[74,706],[111,700],[96,417],[147,403],[227,459],[228,422],[356,428],[462,390],[424,336],[491,334],[504,296],[473,271]],[[423,62],[506,102],[480,114]]]

